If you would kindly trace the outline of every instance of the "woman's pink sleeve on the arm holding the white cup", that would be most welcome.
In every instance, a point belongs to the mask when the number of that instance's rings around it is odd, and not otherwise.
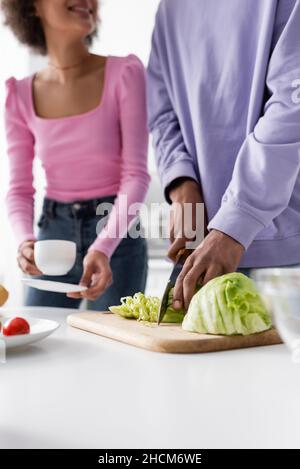
[[[6,196],[8,217],[18,245],[35,239],[33,233],[33,158],[34,137],[20,111],[15,78],[6,82],[5,126],[10,167],[9,190]]]

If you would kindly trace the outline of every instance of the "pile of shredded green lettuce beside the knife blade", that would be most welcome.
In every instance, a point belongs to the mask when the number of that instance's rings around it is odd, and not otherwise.
[[[168,308],[162,322],[182,323],[185,312],[177,311],[171,305],[173,302],[173,289],[169,294]],[[133,296],[121,298],[119,306],[110,306],[112,313],[123,318],[137,319],[144,322],[157,322],[160,299],[156,296],[145,296],[143,293],[136,293]]]

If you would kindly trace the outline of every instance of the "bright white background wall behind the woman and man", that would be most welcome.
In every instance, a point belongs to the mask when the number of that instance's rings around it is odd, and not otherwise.
[[[100,54],[127,55],[134,53],[146,65],[148,62],[151,34],[155,13],[160,0],[101,0],[101,28],[99,38],[93,50]],[[15,245],[4,208],[4,196],[8,186],[8,164],[6,157],[5,135],[3,127],[3,105],[5,100],[4,81],[11,75],[21,78],[33,73],[45,64],[45,59],[29,56],[26,48],[18,45],[12,34],[2,25],[0,18],[0,281],[13,292],[9,306],[17,306],[22,302],[20,274],[16,267]],[[150,151],[150,170],[153,173],[157,198],[157,180]],[[37,206],[41,204],[44,178],[41,168],[36,168],[35,186],[39,197]],[[151,196],[150,196],[151,198]]]

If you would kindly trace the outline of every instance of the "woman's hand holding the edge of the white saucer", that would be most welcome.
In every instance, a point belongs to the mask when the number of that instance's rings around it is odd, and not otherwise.
[[[90,251],[83,260],[80,285],[88,287],[80,293],[68,293],[69,298],[96,300],[112,284],[112,271],[108,257],[99,251]]]

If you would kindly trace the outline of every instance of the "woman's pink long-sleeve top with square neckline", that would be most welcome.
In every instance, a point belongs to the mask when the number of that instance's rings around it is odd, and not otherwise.
[[[105,230],[90,249],[110,257],[135,218],[127,204],[143,202],[148,184],[145,71],[134,55],[109,56],[99,105],[57,119],[37,116],[33,76],[7,80],[6,132],[10,160],[7,209],[17,241],[35,239],[33,160],[46,175],[46,196],[72,202],[117,195]]]

